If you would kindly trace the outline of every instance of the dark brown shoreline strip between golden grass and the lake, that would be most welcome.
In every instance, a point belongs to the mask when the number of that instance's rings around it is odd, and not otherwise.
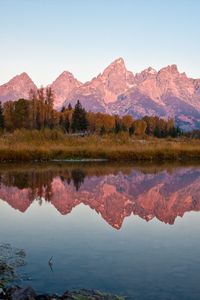
[[[82,154],[82,155],[81,155]],[[103,162],[186,162],[199,161],[200,149],[174,149],[141,151],[116,149],[115,151],[96,151],[87,149],[63,151],[62,149],[0,149],[0,163],[52,162],[52,163],[103,163]]]

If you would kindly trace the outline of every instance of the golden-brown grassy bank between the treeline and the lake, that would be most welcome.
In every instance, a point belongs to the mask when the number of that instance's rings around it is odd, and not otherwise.
[[[60,131],[17,130],[0,137],[0,161],[54,159],[200,160],[200,140],[130,137],[128,133],[67,136]]]

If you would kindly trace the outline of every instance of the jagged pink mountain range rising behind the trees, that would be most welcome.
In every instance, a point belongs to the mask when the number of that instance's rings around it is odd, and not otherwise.
[[[185,130],[200,129],[200,79],[180,73],[176,65],[159,71],[149,67],[134,74],[118,58],[86,83],[64,71],[49,86],[55,93],[58,110],[69,103],[74,106],[79,99],[88,111],[130,114],[134,118],[172,117]],[[0,101],[28,98],[30,89],[36,88],[31,78],[22,73],[0,86]]]

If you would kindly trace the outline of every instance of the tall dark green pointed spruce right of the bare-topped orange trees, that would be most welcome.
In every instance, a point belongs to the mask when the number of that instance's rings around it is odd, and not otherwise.
[[[87,114],[79,100],[77,101],[72,114],[71,128],[73,132],[86,131],[88,128]]]

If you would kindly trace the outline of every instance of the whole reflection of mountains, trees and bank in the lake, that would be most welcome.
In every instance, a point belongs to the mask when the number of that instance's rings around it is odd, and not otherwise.
[[[36,171],[37,170],[37,171]],[[0,171],[0,198],[26,212],[34,201],[50,202],[62,215],[79,204],[95,210],[112,227],[138,215],[174,224],[200,211],[200,168],[67,166]]]

